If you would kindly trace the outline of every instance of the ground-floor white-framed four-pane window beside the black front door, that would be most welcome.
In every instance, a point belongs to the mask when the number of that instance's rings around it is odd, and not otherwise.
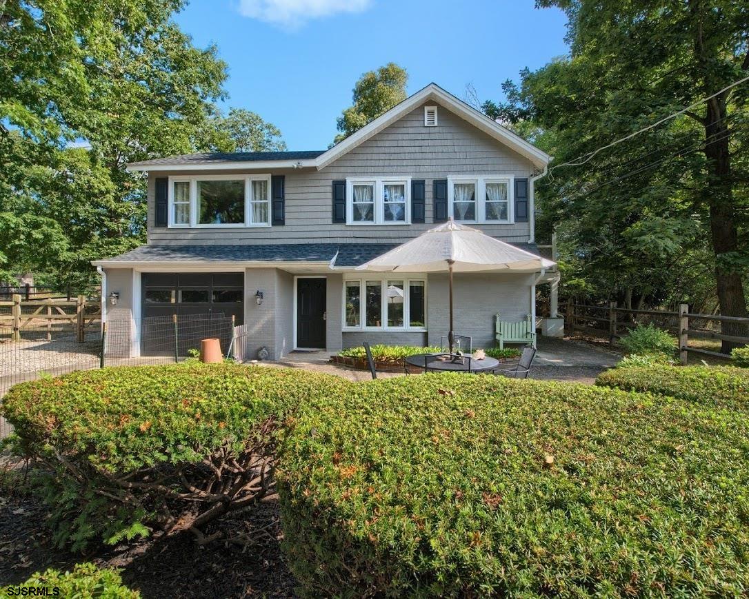
[[[425,331],[426,278],[367,276],[343,282],[344,331]]]

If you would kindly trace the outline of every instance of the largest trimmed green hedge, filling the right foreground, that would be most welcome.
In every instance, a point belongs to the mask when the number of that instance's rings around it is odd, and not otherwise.
[[[741,595],[749,421],[595,386],[432,374],[311,402],[279,473],[307,596]]]

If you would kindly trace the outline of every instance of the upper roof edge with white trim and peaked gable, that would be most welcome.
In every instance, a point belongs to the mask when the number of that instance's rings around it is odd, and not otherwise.
[[[425,88],[407,97],[401,103],[374,121],[362,127],[356,133],[352,133],[342,142],[334,145],[329,150],[310,150],[300,152],[235,152],[235,153],[196,153],[183,156],[170,156],[154,160],[143,160],[142,162],[130,162],[127,165],[130,171],[166,171],[166,170],[188,170],[199,168],[210,170],[218,168],[304,168],[315,167],[319,170],[325,168],[331,162],[339,159],[349,151],[366,142],[372,136],[377,135],[386,127],[398,121],[399,118],[418,108],[425,102],[437,102],[446,109],[455,112],[456,115],[468,121],[477,129],[497,142],[515,150],[521,156],[526,157],[536,166],[542,169],[551,162],[552,156],[539,150],[530,142],[527,142],[516,133],[512,133],[488,116],[479,112],[473,106],[440,88],[436,83],[430,83]]]

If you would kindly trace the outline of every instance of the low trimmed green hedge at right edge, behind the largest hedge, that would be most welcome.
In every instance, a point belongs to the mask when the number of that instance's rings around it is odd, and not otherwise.
[[[749,410],[749,371],[730,366],[633,366],[598,375],[595,384],[651,392],[707,406]]]

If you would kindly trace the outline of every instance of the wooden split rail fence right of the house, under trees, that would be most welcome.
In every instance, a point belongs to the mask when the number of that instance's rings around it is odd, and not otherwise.
[[[623,333],[634,329],[638,324],[652,323],[678,338],[679,362],[682,364],[688,362],[689,353],[730,358],[726,353],[690,346],[690,338],[749,344],[749,318],[695,314],[689,311],[688,304],[680,304],[679,311],[666,311],[619,308],[616,302],[609,302],[608,305],[567,302],[560,304],[560,312],[565,316],[565,328],[568,332],[588,332],[608,338],[610,345],[615,344]],[[711,323],[713,326],[709,326]],[[720,330],[716,329],[715,323],[720,326]]]

